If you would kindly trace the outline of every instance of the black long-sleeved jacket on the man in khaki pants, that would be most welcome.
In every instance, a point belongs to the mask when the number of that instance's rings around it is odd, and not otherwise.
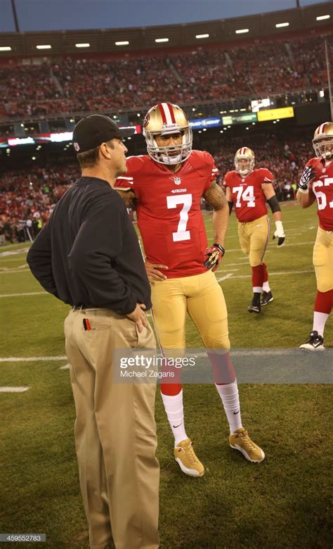
[[[150,285],[124,201],[103,179],[81,177],[55,206],[27,263],[41,286],[69,305],[127,315]]]

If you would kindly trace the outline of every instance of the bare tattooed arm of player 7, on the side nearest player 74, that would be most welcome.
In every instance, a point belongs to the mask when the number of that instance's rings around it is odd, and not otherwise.
[[[213,231],[214,231],[214,243],[221,244],[224,247],[224,241],[226,240],[226,234],[229,223],[229,206],[221,187],[214,180],[211,182],[211,186],[204,193],[204,200],[209,203],[209,206],[214,208],[213,213]]]

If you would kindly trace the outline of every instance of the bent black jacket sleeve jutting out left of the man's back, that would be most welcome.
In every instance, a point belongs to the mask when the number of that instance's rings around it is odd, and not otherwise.
[[[51,237],[49,222],[41,229],[37,238],[30,246],[27,254],[27,264],[39,284],[50,294],[58,298],[51,263]]]

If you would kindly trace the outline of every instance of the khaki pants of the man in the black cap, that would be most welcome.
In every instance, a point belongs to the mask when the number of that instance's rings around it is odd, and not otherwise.
[[[88,318],[91,330],[85,331]],[[74,435],[91,548],[156,549],[159,465],[155,384],[114,383],[115,348],[155,348],[150,327],[106,309],[71,310],[66,353],[77,419]]]

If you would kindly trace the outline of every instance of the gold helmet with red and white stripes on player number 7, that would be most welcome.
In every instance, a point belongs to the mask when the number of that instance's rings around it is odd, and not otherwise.
[[[155,137],[181,134],[181,144],[157,146]],[[149,156],[161,164],[184,162],[192,151],[192,128],[184,111],[172,103],[159,103],[149,109],[143,120],[143,135]]]

